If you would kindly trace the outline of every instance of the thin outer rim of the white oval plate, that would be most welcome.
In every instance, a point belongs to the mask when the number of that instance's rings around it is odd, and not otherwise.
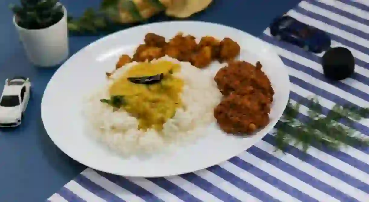
[[[251,35],[251,34],[249,34],[249,33],[247,33],[247,32],[245,32],[245,31],[243,31],[243,30],[240,30],[240,29],[237,29],[237,28],[234,28],[234,27],[231,27],[231,26],[227,26],[227,25],[223,25],[223,24],[218,24],[218,23],[213,23],[213,22],[205,22],[205,21],[165,21],[165,22],[154,22],[154,23],[150,23],[150,24],[144,24],[144,25],[138,25],[138,26],[133,26],[133,27],[130,27],[130,28],[127,28],[127,29],[123,29],[123,30],[119,30],[119,31],[117,31],[117,32],[113,32],[113,33],[110,33],[110,34],[108,34],[108,35],[106,35],[106,36],[103,36],[103,37],[101,37],[100,39],[97,39],[97,40],[95,40],[95,41],[93,41],[93,42],[91,42],[91,43],[89,43],[89,44],[87,44],[85,47],[83,47],[83,48],[81,48],[80,50],[78,50],[75,54],[73,54],[71,57],[69,57],[65,62],[63,62],[63,64],[55,71],[55,73],[52,75],[52,77],[50,78],[50,80],[48,81],[48,83],[47,83],[47,85],[46,85],[46,87],[45,87],[45,90],[44,90],[44,93],[42,94],[42,98],[41,98],[41,109],[40,109],[40,111],[41,111],[41,120],[42,120],[42,124],[44,125],[44,129],[45,129],[45,131],[46,131],[46,133],[48,134],[48,136],[49,136],[49,138],[52,140],[52,142],[64,153],[64,154],[66,154],[66,155],[68,155],[70,158],[72,158],[73,160],[75,160],[75,161],[77,161],[77,162],[79,162],[79,163],[81,163],[81,164],[83,164],[83,165],[85,165],[87,168],[91,168],[91,169],[94,169],[94,170],[99,170],[99,171],[101,171],[101,172],[105,172],[105,173],[110,173],[110,174],[115,174],[115,175],[118,175],[118,176],[125,176],[125,177],[145,177],[145,178],[150,178],[150,177],[170,177],[170,176],[177,176],[177,175],[180,175],[180,174],[185,174],[185,173],[193,173],[193,172],[196,172],[196,171],[198,171],[198,170],[203,170],[203,169],[206,169],[206,168],[208,168],[208,167],[211,167],[211,166],[214,166],[214,165],[218,165],[219,163],[222,163],[222,162],[224,162],[224,161],[227,161],[227,160],[229,160],[229,159],[231,159],[231,158],[233,158],[234,156],[238,156],[238,155],[240,155],[240,154],[242,154],[242,152],[244,152],[244,151],[246,151],[248,148],[245,148],[244,150],[242,150],[242,151],[240,151],[240,152],[238,152],[237,154],[235,154],[235,155],[232,155],[232,156],[230,156],[229,158],[227,158],[227,159],[225,159],[225,160],[221,160],[220,162],[218,162],[218,163],[214,163],[214,164],[211,164],[211,165],[207,165],[206,167],[201,167],[201,168],[198,168],[198,169],[193,169],[193,170],[190,170],[190,171],[186,171],[186,172],[176,172],[176,173],[173,173],[173,174],[166,174],[166,175],[163,175],[163,174],[158,174],[158,175],[155,175],[155,174],[151,174],[151,175],[135,175],[135,174],[125,174],[125,175],[122,175],[121,173],[118,173],[118,172],[111,172],[111,171],[108,171],[108,170],[106,170],[106,169],[101,169],[101,168],[99,168],[99,169],[97,169],[97,168],[94,168],[93,166],[90,166],[90,165],[88,165],[88,163],[87,164],[85,164],[86,162],[84,161],[84,160],[81,160],[81,159],[76,159],[75,158],[75,156],[74,155],[70,155],[70,152],[66,152],[66,149],[63,149],[62,147],[60,147],[58,144],[56,144],[55,143],[55,139],[53,139],[52,138],[52,136],[50,136],[49,135],[49,133],[48,133],[48,130],[46,129],[46,126],[45,126],[45,123],[44,123],[44,121],[43,121],[43,117],[44,117],[44,115],[43,115],[43,103],[44,103],[44,97],[45,97],[45,92],[48,90],[48,88],[49,88],[49,83],[51,82],[51,80],[54,78],[54,76],[58,73],[58,71],[60,71],[60,69],[62,69],[62,67],[66,64],[66,63],[68,63],[68,62],[70,62],[70,61],[72,61],[75,57],[77,57],[77,55],[80,53],[80,52],[83,52],[83,51],[85,51],[85,50],[87,50],[88,48],[90,48],[90,47],[93,47],[93,46],[95,46],[96,44],[99,44],[99,43],[101,43],[101,42],[103,42],[104,40],[108,40],[110,37],[113,37],[114,35],[119,35],[120,33],[122,33],[122,32],[130,32],[131,30],[133,30],[133,29],[144,29],[145,27],[149,27],[149,26],[153,26],[153,25],[160,25],[160,24],[163,24],[163,25],[165,25],[165,24],[167,24],[167,26],[170,26],[169,24],[211,24],[211,25],[215,25],[215,26],[219,26],[220,28],[222,28],[222,27],[224,27],[224,28],[228,28],[228,29],[231,29],[231,30],[233,30],[233,31],[235,31],[235,32],[242,32],[242,34],[245,34],[245,35],[249,35],[250,37],[252,37],[252,38],[254,38],[255,40],[258,40],[259,42],[261,42],[261,43],[263,43],[264,44],[264,46],[265,47],[267,47],[268,49],[270,49],[270,50],[272,50],[272,52],[274,52],[275,54],[276,54],[276,56],[278,56],[278,60],[283,64],[283,66],[284,66],[284,68],[285,68],[285,72],[287,72],[287,78],[286,79],[288,79],[288,86],[285,86],[285,88],[287,88],[288,89],[288,94],[290,94],[290,89],[291,89],[291,83],[290,83],[290,78],[289,78],[289,73],[288,73],[288,69],[287,69],[287,67],[286,67],[286,65],[284,65],[284,63],[283,63],[283,61],[282,61],[282,59],[279,57],[279,55],[277,54],[277,52],[276,52],[276,50],[275,50],[275,48],[272,46],[272,44],[269,44],[269,43],[267,43],[267,42],[265,42],[265,41],[263,41],[263,40],[261,40],[261,39],[259,39],[258,37],[255,37],[255,36],[253,36],[253,35]],[[288,103],[288,100],[289,100],[289,96],[288,96],[288,98],[286,99],[286,102],[284,103],[284,109],[286,108],[286,106],[287,106],[287,103]],[[279,119],[282,117],[282,115],[283,115],[283,112],[284,112],[284,109],[283,109],[283,111],[282,111],[282,114],[278,114],[278,117],[279,117]],[[278,120],[279,119],[277,119],[277,120],[275,120],[274,122],[275,123],[273,123],[273,126],[272,126],[272,129],[273,129],[273,127],[276,125],[276,123],[278,122]],[[259,141],[261,141],[262,140],[262,138],[263,137],[265,137],[266,136],[266,134],[268,134],[269,133],[269,131],[268,132],[266,132],[258,141],[256,141],[256,143],[258,143]],[[256,143],[254,143],[254,144],[252,144],[252,145],[255,145]],[[252,146],[251,145],[251,146]]]

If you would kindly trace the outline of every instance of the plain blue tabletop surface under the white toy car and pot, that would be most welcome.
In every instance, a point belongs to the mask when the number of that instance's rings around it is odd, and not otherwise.
[[[259,36],[273,18],[293,8],[300,0],[278,3],[270,0],[214,1],[208,10],[191,20],[217,22]],[[87,7],[86,2],[89,7],[99,4],[99,0],[61,2],[72,15],[80,15]],[[0,201],[44,201],[82,172],[85,166],[63,154],[45,132],[40,113],[41,98],[55,69],[37,69],[28,62],[12,24],[12,14],[8,10],[10,3],[18,3],[18,0],[0,1],[0,84],[7,77],[27,76],[32,82],[32,93],[22,125],[0,130]],[[100,37],[70,36],[70,54]]]

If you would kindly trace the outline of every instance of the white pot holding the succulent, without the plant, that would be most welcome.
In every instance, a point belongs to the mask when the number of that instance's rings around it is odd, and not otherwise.
[[[67,11],[56,24],[44,29],[25,29],[18,26],[15,16],[13,24],[17,28],[21,42],[30,61],[41,67],[55,66],[69,55]]]

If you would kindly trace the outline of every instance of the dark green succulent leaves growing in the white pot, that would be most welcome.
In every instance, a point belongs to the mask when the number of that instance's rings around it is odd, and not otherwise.
[[[48,28],[64,16],[57,0],[20,0],[21,5],[10,5],[18,26],[25,29]]]

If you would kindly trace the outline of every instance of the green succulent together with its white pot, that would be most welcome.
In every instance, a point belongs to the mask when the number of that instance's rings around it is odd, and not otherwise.
[[[25,52],[37,66],[60,64],[69,55],[65,7],[57,0],[20,0],[11,5],[13,24]]]

